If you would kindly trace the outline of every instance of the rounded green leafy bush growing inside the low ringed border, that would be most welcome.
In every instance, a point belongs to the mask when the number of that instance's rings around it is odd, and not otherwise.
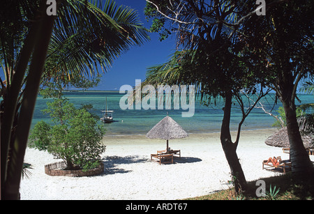
[[[99,165],[100,154],[105,152],[101,139],[105,134],[86,109],[76,109],[64,98],[47,103],[45,113],[50,113],[49,125],[38,122],[29,137],[31,146],[47,150],[66,162],[67,169],[92,169]]]

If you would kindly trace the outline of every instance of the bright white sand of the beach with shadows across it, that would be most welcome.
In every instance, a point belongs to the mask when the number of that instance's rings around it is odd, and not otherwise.
[[[270,156],[289,158],[282,148],[264,144],[271,130],[243,131],[237,149],[247,181],[274,176],[262,169]],[[181,149],[174,165],[158,165],[150,154],[165,149],[165,141],[145,136],[105,137],[105,172],[100,176],[48,176],[44,165],[57,162],[47,152],[27,148],[24,162],[32,165],[32,175],[21,181],[21,199],[185,199],[227,189],[230,168],[220,145],[219,133],[194,134],[170,140]]]

